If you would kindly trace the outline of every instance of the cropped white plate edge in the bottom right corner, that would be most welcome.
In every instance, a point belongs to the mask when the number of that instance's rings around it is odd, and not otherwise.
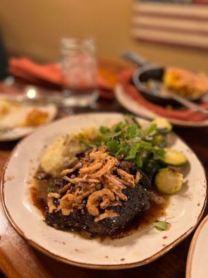
[[[197,228],[189,247],[187,278],[208,276],[208,215]]]

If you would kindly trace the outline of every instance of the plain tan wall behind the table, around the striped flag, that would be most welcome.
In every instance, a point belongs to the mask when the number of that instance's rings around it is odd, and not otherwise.
[[[101,57],[116,59],[121,51],[128,49],[139,52],[153,63],[208,72],[206,49],[137,40],[132,35],[135,2],[1,0],[1,35],[8,54],[28,56],[37,62],[58,61],[60,40],[63,37],[92,36],[96,39],[97,53]],[[198,22],[199,28],[205,24],[205,21]]]

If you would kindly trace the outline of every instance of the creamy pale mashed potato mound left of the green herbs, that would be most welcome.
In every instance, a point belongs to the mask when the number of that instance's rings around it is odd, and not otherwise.
[[[87,146],[80,142],[80,138],[92,142],[101,138],[98,129],[92,127],[78,133],[67,133],[58,137],[46,148],[40,166],[53,177],[60,177],[62,170],[76,163],[76,154],[87,150]]]

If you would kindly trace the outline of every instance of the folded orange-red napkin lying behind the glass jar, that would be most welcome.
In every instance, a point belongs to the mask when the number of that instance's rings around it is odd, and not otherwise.
[[[61,88],[64,83],[60,65],[40,65],[28,58],[10,58],[8,72],[19,79],[24,79],[24,81],[37,85],[58,85]],[[98,88],[101,89],[101,97],[114,97],[112,85],[102,76],[98,76],[97,84]]]

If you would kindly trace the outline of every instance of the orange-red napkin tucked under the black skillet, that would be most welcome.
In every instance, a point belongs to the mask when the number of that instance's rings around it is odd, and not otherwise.
[[[160,115],[162,117],[172,118],[176,120],[183,120],[183,121],[191,121],[191,122],[201,122],[203,120],[208,119],[208,115],[195,112],[191,109],[184,109],[182,111],[177,109],[167,109],[163,106],[159,106],[156,104],[153,104],[152,102],[148,101],[142,95],[139,93],[135,85],[132,84],[132,74],[133,71],[125,71],[122,72],[119,75],[119,83],[123,86],[125,92],[132,97],[132,99],[135,99],[135,101],[138,102],[139,105],[142,105],[146,108],[148,108],[150,111],[153,111],[157,115]],[[200,104],[202,108],[208,109],[208,103],[206,104]]]

